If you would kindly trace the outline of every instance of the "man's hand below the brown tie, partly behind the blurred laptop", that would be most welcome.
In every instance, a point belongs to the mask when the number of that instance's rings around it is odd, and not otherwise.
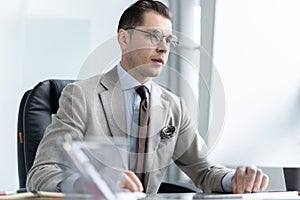
[[[122,172],[122,189],[131,192],[142,192],[144,190],[140,179],[132,172],[125,170]]]

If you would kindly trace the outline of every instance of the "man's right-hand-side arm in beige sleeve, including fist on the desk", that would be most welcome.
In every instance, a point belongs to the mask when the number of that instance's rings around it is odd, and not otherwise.
[[[206,157],[210,149],[206,149],[205,142],[192,125],[183,101],[181,105],[182,123],[176,149],[181,152],[184,150],[184,153],[176,156],[178,159],[175,159],[175,163],[189,175],[195,185],[204,192],[244,193],[264,190],[268,185],[268,176],[255,166],[240,166],[234,171],[208,163]],[[225,187],[226,191],[224,186],[229,186]]]

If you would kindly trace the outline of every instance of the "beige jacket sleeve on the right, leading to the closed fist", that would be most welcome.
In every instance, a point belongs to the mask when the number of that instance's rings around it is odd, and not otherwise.
[[[224,192],[222,178],[232,170],[222,165],[212,165],[207,161],[209,150],[193,125],[182,99],[180,104],[181,123],[173,159],[204,192]]]

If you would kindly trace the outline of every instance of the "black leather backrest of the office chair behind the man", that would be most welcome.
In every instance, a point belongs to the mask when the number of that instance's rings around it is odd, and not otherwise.
[[[28,90],[22,97],[18,113],[18,173],[19,186],[24,188],[37,147],[51,115],[57,112],[58,100],[63,88],[74,80],[45,80]]]

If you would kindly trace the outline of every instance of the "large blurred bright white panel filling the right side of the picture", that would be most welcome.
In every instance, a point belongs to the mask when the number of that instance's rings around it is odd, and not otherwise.
[[[226,119],[211,159],[300,166],[300,1],[218,0],[214,63]]]

